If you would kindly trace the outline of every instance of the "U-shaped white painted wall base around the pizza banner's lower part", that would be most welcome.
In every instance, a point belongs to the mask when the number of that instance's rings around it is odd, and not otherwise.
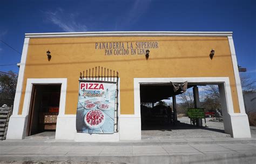
[[[117,142],[119,140],[141,140],[140,117],[121,115],[119,132],[113,134],[87,134],[76,132],[76,115],[62,115],[57,118],[55,139],[79,142]]]

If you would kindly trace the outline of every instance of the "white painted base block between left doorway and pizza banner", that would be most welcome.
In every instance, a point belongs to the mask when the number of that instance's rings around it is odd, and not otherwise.
[[[56,125],[56,140],[73,140],[76,134],[76,115],[58,115]]]

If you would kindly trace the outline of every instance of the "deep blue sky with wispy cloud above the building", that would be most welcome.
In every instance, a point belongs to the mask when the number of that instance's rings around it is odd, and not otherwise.
[[[256,79],[256,1],[1,1],[0,39],[22,52],[24,33],[233,31],[238,64]],[[0,42],[0,71],[21,54]],[[7,65],[12,64],[12,65]]]

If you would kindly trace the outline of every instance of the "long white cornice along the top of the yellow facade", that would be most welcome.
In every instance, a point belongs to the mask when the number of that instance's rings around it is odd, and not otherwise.
[[[206,36],[227,37],[233,32],[196,32],[196,31],[106,31],[106,32],[56,32],[25,33],[25,38],[65,38],[65,37],[127,37],[127,36]]]

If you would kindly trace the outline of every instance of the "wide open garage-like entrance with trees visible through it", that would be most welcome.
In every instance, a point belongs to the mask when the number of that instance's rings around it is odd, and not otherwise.
[[[230,137],[224,131],[218,84],[187,83],[186,90],[174,87],[140,84],[142,139]],[[190,119],[188,108],[203,108],[205,119]]]

